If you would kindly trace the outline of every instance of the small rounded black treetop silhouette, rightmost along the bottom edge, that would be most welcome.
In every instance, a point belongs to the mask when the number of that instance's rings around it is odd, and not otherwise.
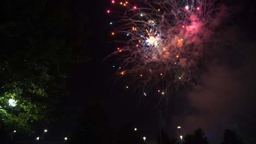
[[[236,135],[235,131],[225,130],[223,142],[221,144],[243,144],[243,141],[239,135]]]

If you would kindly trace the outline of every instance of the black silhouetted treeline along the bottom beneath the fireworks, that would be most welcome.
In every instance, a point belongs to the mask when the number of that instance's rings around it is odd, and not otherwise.
[[[156,134],[157,135],[157,134]],[[165,131],[156,136],[155,144],[208,144],[209,141],[202,129],[197,129],[194,134],[185,135],[182,140],[170,137]],[[75,143],[106,143],[106,144],[146,144],[152,141],[144,141],[139,130],[135,130],[132,124],[124,124],[118,131],[109,127],[104,109],[97,106],[89,107],[79,118],[77,128],[73,131],[69,144]],[[220,144],[243,144],[243,141],[235,131],[226,129],[223,141]]]

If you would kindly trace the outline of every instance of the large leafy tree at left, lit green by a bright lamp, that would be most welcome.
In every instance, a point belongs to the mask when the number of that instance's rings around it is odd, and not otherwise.
[[[4,0],[0,6],[0,124],[32,132],[51,122],[72,65],[89,60],[83,11],[72,1]]]

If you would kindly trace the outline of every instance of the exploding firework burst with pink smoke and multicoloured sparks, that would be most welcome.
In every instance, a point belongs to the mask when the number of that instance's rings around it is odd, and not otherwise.
[[[165,98],[193,82],[198,65],[210,54],[208,45],[217,26],[214,13],[219,10],[216,1],[111,2],[123,7],[112,35],[127,36],[121,42],[124,46],[108,56],[119,56],[118,77],[142,88],[142,95],[159,87],[161,91],[156,91]]]

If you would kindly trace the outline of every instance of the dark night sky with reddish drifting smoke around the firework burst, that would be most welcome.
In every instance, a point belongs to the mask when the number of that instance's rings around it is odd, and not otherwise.
[[[159,113],[155,109],[154,95],[142,97],[124,89],[122,81],[115,82],[112,63],[103,61],[115,50],[110,43],[113,26],[106,9],[110,1],[72,3],[73,11],[82,11],[88,17],[90,36],[85,39],[91,61],[72,70],[67,89],[70,95],[61,99],[62,109],[71,109],[76,117],[62,119],[48,125],[45,140],[62,139],[75,129],[78,118],[91,104],[103,107],[109,125],[120,129],[129,123],[141,130],[148,140],[156,140],[159,134]],[[229,128],[249,139],[256,134],[255,116],[255,33],[253,5],[249,2],[234,2],[231,14],[225,18],[220,40],[227,45],[219,46],[214,59],[205,60],[206,70],[191,88],[185,88],[171,97],[162,118],[162,129],[170,136],[177,136],[177,125],[182,133],[191,134],[202,128],[210,141],[223,139],[223,132]],[[40,125],[37,129],[43,129]],[[36,133],[38,134],[38,133]],[[248,136],[248,137],[246,137]]]

